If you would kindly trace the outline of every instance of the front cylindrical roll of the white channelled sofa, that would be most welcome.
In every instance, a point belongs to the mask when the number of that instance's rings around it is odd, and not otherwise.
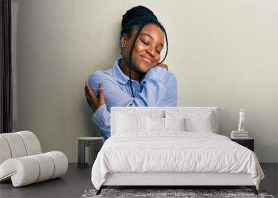
[[[67,172],[68,161],[60,151],[9,158],[0,165],[0,181],[11,178],[14,187],[53,179]]]

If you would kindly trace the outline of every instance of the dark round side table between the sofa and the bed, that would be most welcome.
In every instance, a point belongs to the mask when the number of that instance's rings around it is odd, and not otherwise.
[[[92,163],[95,162],[97,154],[104,144],[104,138],[100,137],[82,137],[78,138],[78,167],[88,167],[89,155],[92,156]],[[89,147],[90,151],[89,152]],[[90,153],[90,154],[89,154]],[[91,163],[91,162],[90,162]]]

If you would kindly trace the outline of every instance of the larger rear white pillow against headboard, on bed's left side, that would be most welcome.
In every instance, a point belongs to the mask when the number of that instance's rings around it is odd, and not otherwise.
[[[147,131],[147,116],[117,113],[116,133]]]

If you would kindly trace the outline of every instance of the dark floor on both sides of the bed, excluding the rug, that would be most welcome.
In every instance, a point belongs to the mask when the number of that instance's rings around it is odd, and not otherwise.
[[[278,164],[261,163],[261,167],[265,179],[261,181],[260,189],[277,197]],[[60,178],[19,188],[13,188],[11,182],[0,183],[0,197],[81,197],[84,190],[93,188],[90,173],[91,167],[81,169],[76,163],[70,163],[67,174]]]

